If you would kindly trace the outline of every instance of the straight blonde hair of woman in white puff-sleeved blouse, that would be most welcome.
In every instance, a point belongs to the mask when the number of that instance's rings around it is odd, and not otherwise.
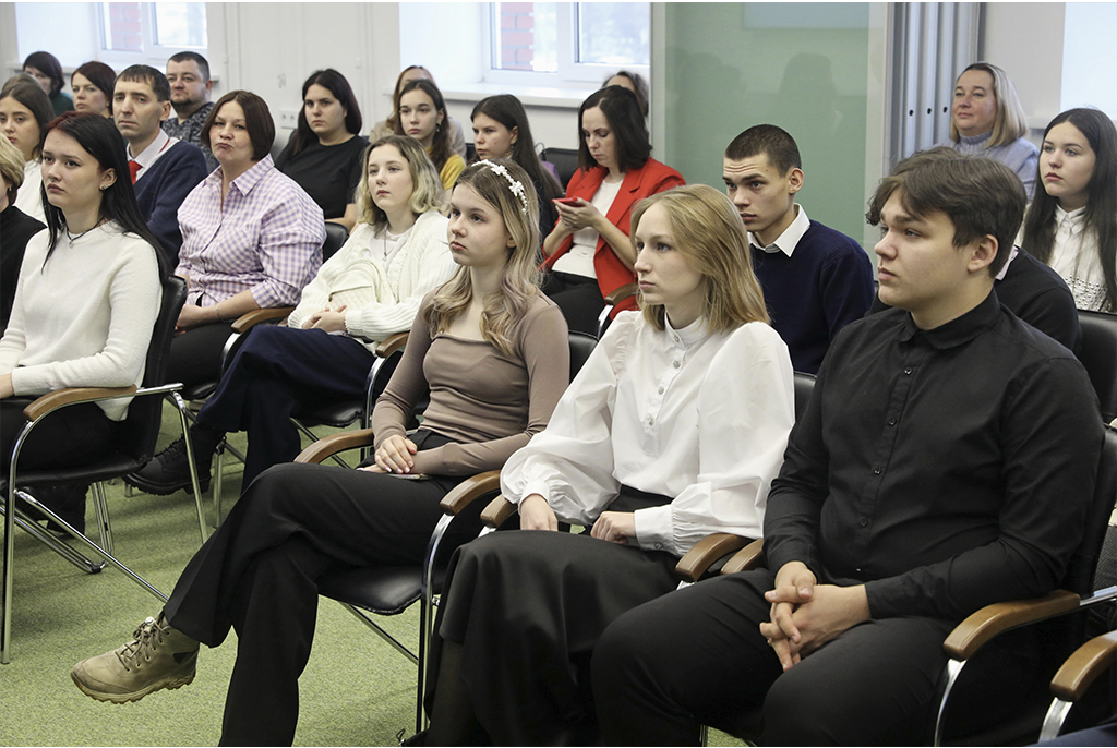
[[[688,184],[641,200],[632,213],[633,251],[640,219],[652,205],[667,211],[675,249],[706,280],[701,316],[709,330],[724,333],[746,323],[768,322],[745,227],[725,193],[707,184]],[[642,300],[640,306],[648,324],[663,329],[663,306]]]

